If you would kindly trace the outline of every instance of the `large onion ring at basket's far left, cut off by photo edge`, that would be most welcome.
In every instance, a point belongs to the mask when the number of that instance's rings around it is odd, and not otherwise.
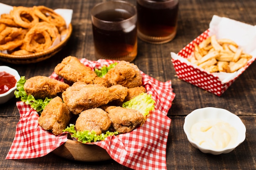
[[[21,46],[25,37],[25,31],[21,28],[6,27],[0,33],[0,50],[13,50]]]

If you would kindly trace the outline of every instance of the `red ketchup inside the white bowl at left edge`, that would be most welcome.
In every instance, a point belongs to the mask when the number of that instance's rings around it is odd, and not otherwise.
[[[0,72],[0,94],[6,93],[16,84],[15,77],[5,71]]]

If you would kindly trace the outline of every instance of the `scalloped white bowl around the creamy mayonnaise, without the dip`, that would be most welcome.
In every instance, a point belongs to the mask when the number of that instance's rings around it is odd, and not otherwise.
[[[204,148],[200,146],[197,142],[193,141],[191,139],[191,127],[195,123],[199,121],[203,121],[205,119],[220,119],[222,121],[229,123],[230,126],[236,128],[238,132],[238,139],[236,141],[236,144],[233,146],[227,146],[226,148],[223,148],[223,149],[214,149],[214,148],[209,149],[209,148]],[[193,110],[190,114],[188,114],[185,117],[183,129],[192,146],[194,146],[195,148],[198,148],[203,153],[210,153],[213,155],[229,153],[232,150],[234,150],[237,146],[239,146],[245,140],[245,132],[246,132],[245,125],[237,115],[223,108],[214,108],[214,107],[206,107],[206,108],[199,108],[199,109]]]

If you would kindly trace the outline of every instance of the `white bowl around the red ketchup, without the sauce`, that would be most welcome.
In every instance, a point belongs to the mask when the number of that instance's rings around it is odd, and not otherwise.
[[[8,66],[0,66],[0,72],[2,71],[5,71],[6,73],[13,75],[17,82],[20,80],[20,75],[18,71],[14,70],[13,68],[10,68]],[[0,104],[4,104],[9,99],[14,97],[14,91],[16,90],[17,82],[13,88],[9,89],[9,91],[7,91],[6,93],[0,94]]]

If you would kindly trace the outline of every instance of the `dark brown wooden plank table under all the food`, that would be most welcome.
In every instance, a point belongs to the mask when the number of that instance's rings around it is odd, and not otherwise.
[[[129,0],[135,4],[135,0]],[[45,5],[52,9],[73,9],[73,32],[65,48],[55,56],[35,64],[16,65],[0,62],[15,68],[20,75],[49,76],[64,57],[96,60],[92,40],[90,9],[101,0],[0,0],[12,6]],[[167,143],[167,169],[256,169],[256,63],[254,62],[228,90],[218,97],[177,78],[170,52],[177,53],[186,44],[209,28],[213,15],[231,18],[256,25],[255,0],[180,0],[178,31],[175,39],[161,45],[138,40],[138,55],[133,61],[141,71],[165,82],[171,79],[176,97],[168,112],[172,119]],[[99,170],[129,168],[110,160],[79,162],[63,159],[50,153],[36,159],[6,160],[5,157],[15,135],[19,113],[18,99],[0,105],[0,169],[9,170]],[[184,118],[196,108],[213,106],[225,108],[238,115],[247,128],[245,141],[234,151],[223,155],[210,155],[193,148],[183,131]]]

